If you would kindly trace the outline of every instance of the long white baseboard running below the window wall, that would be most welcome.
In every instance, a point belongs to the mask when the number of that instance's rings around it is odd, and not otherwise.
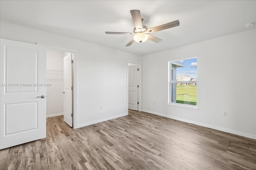
[[[152,113],[154,115],[159,115],[159,116],[163,116],[163,117],[168,117],[170,119],[175,119],[175,120],[179,120],[179,121],[184,121],[186,123],[191,123],[191,124],[194,124],[194,125],[199,125],[199,126],[203,126],[203,127],[208,127],[210,129],[215,129],[215,130],[218,130],[218,131],[223,131],[223,132],[227,132],[227,133],[232,133],[234,135],[239,135],[239,136],[242,136],[242,137],[248,137],[250,139],[256,139],[256,135],[252,135],[252,134],[248,134],[248,133],[244,133],[244,132],[239,132],[239,131],[234,131],[232,129],[226,129],[226,128],[222,128],[222,127],[217,127],[217,126],[213,126],[213,125],[208,125],[208,124],[205,124],[205,123],[200,123],[200,122],[196,122],[196,121],[191,121],[191,120],[188,120],[188,119],[182,119],[182,118],[179,118],[179,117],[175,117],[175,116],[171,116],[171,115],[166,115],[166,114],[162,114],[162,113],[158,113],[158,112],[154,112],[154,111],[150,111],[150,110],[145,110],[145,109],[142,109],[142,111],[144,112],[147,112],[147,113]]]

